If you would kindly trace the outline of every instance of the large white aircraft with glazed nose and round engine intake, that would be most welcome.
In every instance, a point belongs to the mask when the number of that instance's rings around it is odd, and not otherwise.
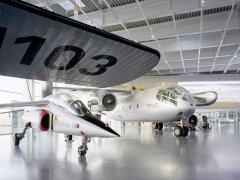
[[[57,90],[90,91],[92,99],[88,106],[100,116],[123,122],[155,122],[155,129],[162,130],[163,123],[180,121],[174,135],[186,137],[189,124],[197,125],[194,115],[196,106],[208,106],[216,102],[214,91],[191,94],[180,86],[162,86],[147,90],[132,87],[132,90],[107,88],[53,87]],[[140,91],[138,91],[140,90]],[[82,94],[81,94],[82,95]],[[95,97],[94,97],[95,96]]]

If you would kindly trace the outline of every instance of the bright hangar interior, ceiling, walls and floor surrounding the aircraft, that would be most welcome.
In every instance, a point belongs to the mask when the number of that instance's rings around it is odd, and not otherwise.
[[[0,114],[0,179],[239,179],[240,1],[26,2],[161,53],[152,71],[115,88],[178,85],[190,93],[215,91],[218,100],[195,112],[207,116],[212,129],[187,138],[174,137],[169,127],[156,132],[152,123],[123,126],[103,116],[121,137],[93,138],[85,157],[77,153],[79,137],[68,143],[63,134],[52,132],[27,131],[20,147],[14,147],[14,117]],[[0,84],[1,103],[42,98],[41,81],[0,76]],[[54,86],[82,87],[64,82]]]

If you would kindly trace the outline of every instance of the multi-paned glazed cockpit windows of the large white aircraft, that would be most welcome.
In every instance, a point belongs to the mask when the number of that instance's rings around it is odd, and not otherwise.
[[[178,86],[158,90],[156,98],[162,102],[171,102],[175,106],[177,106],[178,98],[189,101],[191,104],[194,103],[190,93]]]

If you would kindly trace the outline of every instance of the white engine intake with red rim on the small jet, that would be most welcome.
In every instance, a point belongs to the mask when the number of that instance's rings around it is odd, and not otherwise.
[[[34,129],[48,131],[50,128],[50,114],[43,109],[26,110],[22,116],[22,120],[25,124],[31,122]]]

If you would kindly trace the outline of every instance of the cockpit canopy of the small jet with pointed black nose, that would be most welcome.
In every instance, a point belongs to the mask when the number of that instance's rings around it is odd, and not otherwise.
[[[50,100],[50,99],[49,99]],[[67,93],[52,95],[52,100],[61,108],[76,116],[91,114],[88,108],[76,96]]]

